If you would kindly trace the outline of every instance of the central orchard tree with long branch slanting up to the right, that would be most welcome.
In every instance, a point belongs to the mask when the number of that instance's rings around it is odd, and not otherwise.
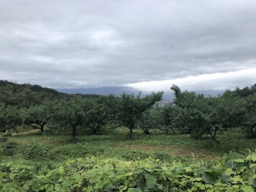
[[[137,97],[134,94],[127,95],[123,93],[118,103],[118,120],[120,124],[126,126],[130,130],[130,138],[133,137],[135,123],[138,122],[142,113],[162,99],[163,92],[152,93],[141,98],[141,93]]]

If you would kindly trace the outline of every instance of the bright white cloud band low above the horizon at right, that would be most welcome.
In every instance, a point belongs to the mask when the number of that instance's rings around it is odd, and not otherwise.
[[[148,81],[126,84],[142,91],[169,91],[172,84],[177,84],[182,90],[233,90],[236,87],[244,88],[246,84],[254,84],[256,68],[228,73],[203,74],[185,78],[162,81]]]

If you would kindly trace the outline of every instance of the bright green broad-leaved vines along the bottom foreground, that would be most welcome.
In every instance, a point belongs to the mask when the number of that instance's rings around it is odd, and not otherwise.
[[[79,158],[60,164],[0,164],[0,191],[248,191],[256,154],[216,161]]]

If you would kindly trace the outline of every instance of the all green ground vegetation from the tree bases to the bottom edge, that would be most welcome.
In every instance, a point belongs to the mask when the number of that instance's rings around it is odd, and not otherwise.
[[[0,142],[0,191],[250,192],[256,186],[256,142],[239,129],[220,133],[220,145],[160,130],[135,130],[129,139],[129,130],[105,127],[76,140],[68,132],[25,130]]]

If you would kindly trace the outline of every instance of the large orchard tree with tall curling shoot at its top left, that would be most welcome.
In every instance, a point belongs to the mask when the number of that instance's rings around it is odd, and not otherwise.
[[[204,98],[203,95],[196,95],[195,92],[181,92],[175,85],[171,90],[175,92],[175,104],[179,107],[176,120],[178,127],[188,134],[194,132],[200,136],[207,133],[212,140],[219,143],[216,139],[217,131],[222,129],[225,123],[231,123],[230,118],[233,114],[231,103],[225,103],[220,97]]]

